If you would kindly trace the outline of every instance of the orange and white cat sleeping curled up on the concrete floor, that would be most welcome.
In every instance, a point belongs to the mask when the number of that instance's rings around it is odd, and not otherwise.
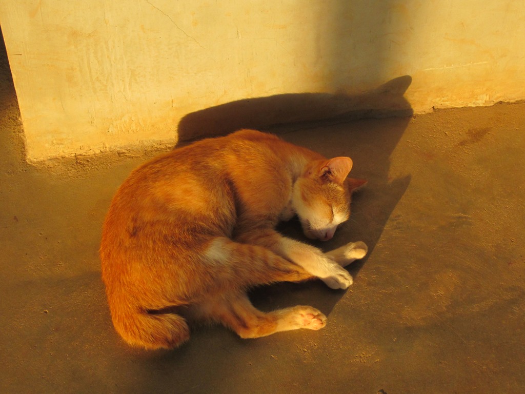
[[[187,322],[219,322],[240,337],[317,330],[309,306],[263,313],[251,286],[320,278],[345,289],[343,266],[362,242],[331,254],[280,235],[297,214],[304,234],[329,240],[350,215],[352,160],[325,159],[271,134],[241,130],[175,149],[134,170],[104,221],[100,257],[113,325],[133,346],[174,348]]]

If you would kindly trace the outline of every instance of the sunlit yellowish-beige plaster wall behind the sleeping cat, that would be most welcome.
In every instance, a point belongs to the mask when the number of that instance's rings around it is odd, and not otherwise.
[[[0,24],[30,161],[173,144],[210,107],[215,126],[366,109],[403,75],[415,112],[525,99],[521,0],[3,0]]]

